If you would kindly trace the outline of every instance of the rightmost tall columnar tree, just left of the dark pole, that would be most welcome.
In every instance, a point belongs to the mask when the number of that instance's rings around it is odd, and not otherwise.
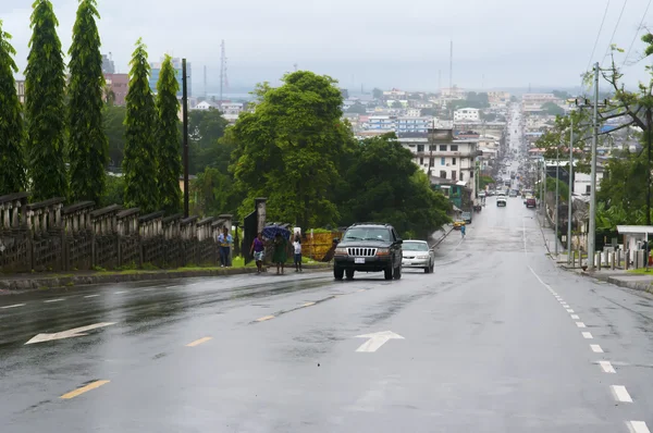
[[[172,58],[165,55],[157,82],[157,166],[160,206],[169,212],[180,210],[182,190],[180,175],[180,101],[176,98],[180,84],[176,81]]]

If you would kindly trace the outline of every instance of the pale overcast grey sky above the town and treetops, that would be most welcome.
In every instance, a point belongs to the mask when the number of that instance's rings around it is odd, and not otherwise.
[[[297,63],[348,88],[435,90],[439,71],[442,86],[448,85],[449,40],[453,82],[460,87],[576,86],[590,60],[604,59],[615,27],[614,42],[630,46],[650,1],[627,1],[616,26],[624,1],[609,1],[592,59],[607,0],[99,0],[98,9],[102,52],[112,53],[120,72],[127,71],[134,42],[143,37],[150,61],[169,52],[193,63],[196,92],[205,64],[209,82],[218,82],[221,39],[232,87],[276,83]],[[0,0],[21,71],[32,3]],[[67,50],[77,0],[52,3]],[[643,23],[653,23],[653,5]],[[629,58],[637,60],[642,50],[638,37]],[[649,62],[625,69],[631,84],[646,78]]]

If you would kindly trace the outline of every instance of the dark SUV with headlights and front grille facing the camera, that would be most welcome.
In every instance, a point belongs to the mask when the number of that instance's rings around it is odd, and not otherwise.
[[[381,272],[385,280],[402,277],[402,243],[390,224],[354,224],[345,232],[333,256],[333,276],[354,277],[354,272]]]

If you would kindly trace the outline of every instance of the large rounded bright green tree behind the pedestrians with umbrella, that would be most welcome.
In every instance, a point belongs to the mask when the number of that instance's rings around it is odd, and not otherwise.
[[[340,218],[334,185],[352,131],[343,123],[336,82],[308,71],[286,74],[276,88],[257,87],[254,113],[234,126],[237,143],[232,172],[245,191],[268,197],[268,215],[303,227],[333,224]],[[245,208],[242,208],[242,214]]]

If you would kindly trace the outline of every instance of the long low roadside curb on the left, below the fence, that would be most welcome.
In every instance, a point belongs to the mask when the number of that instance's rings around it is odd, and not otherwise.
[[[268,268],[270,270],[271,268]],[[289,267],[288,267],[289,269]],[[330,265],[304,265],[308,272],[330,271]],[[135,273],[98,273],[85,275],[42,275],[24,279],[0,280],[0,290],[34,290],[44,288],[88,286],[95,284],[114,284],[138,281],[164,281],[199,276],[229,276],[256,273],[256,268],[197,269],[186,271],[140,271]],[[270,272],[268,272],[270,273]]]

